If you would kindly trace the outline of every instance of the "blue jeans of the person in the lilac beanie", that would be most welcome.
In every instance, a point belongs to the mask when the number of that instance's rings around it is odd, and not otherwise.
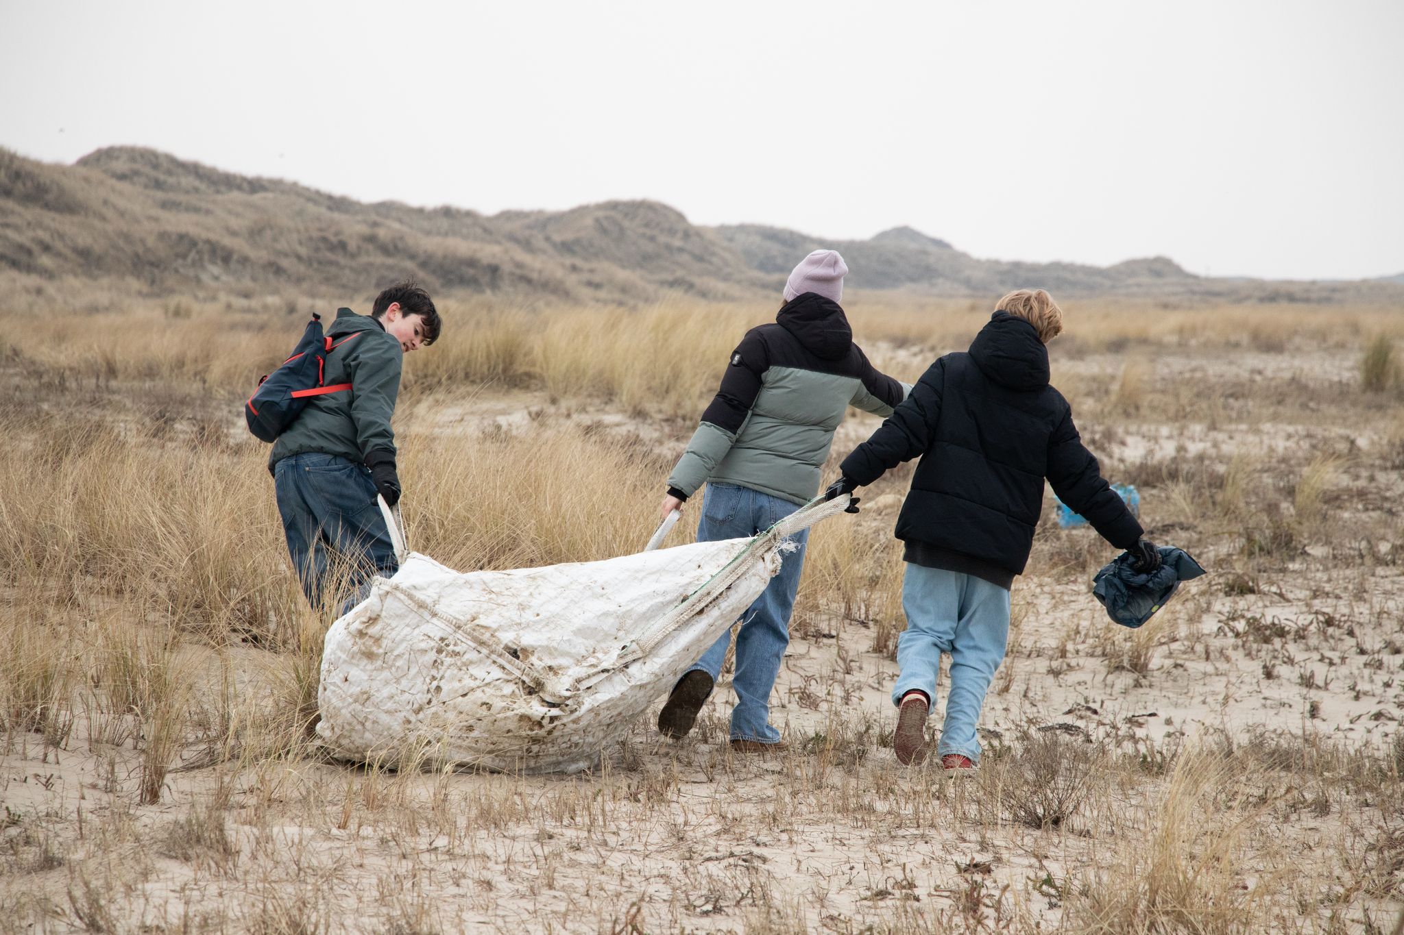
[[[702,499],[702,520],[698,523],[698,541],[715,542],[755,535],[797,509],[799,506],[789,500],[747,486],[708,484]],[[736,688],[736,708],[731,711],[733,740],[775,743],[781,739],[781,732],[769,723],[771,690],[775,688],[775,676],[781,671],[781,660],[785,657],[785,648],[789,646],[789,615],[795,608],[799,573],[804,568],[809,530],[796,533],[790,541],[799,548],[783,555],[781,573],[771,579],[761,596],[743,614],[741,629],[736,634],[736,671],[731,676],[731,687]],[[692,669],[701,669],[715,681],[722,674],[722,662],[726,659],[730,642],[731,631],[727,629]]]

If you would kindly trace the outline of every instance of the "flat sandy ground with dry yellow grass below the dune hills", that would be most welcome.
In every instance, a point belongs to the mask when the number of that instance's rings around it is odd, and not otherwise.
[[[1404,422],[1369,377],[1397,307],[1063,300],[1085,442],[1212,575],[1119,628],[1090,594],[1112,551],[1049,495],[977,775],[890,749],[907,467],[814,530],[788,753],[729,751],[723,676],[685,742],[640,722],[595,771],[528,778],[330,763],[309,730],[330,614],[237,409],[340,303],[11,285],[0,932],[1397,931]],[[913,380],[988,301],[845,304]],[[445,294],[396,421],[411,547],[463,571],[642,548],[768,303]],[[851,415],[830,474],[876,425]]]

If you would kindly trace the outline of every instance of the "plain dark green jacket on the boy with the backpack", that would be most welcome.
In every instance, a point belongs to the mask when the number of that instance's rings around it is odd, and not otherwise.
[[[357,464],[375,460],[373,453],[395,457],[395,398],[400,393],[400,366],[404,350],[385,327],[369,315],[337,308],[327,336],[341,341],[361,332],[354,341],[327,355],[323,383],[350,383],[345,393],[312,397],[282,435],[272,443],[268,470],[285,457],[319,451],[336,454]]]

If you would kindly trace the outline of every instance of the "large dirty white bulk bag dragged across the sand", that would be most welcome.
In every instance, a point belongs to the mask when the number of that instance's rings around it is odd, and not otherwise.
[[[388,765],[588,768],[765,590],[786,537],[847,505],[602,562],[461,573],[411,552],[327,631],[317,735]]]

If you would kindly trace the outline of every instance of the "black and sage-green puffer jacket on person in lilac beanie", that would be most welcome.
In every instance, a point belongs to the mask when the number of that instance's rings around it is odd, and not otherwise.
[[[837,303],[797,296],[731,353],[668,492],[685,500],[705,482],[734,484],[806,503],[848,407],[887,416],[910,390],[868,362]]]

